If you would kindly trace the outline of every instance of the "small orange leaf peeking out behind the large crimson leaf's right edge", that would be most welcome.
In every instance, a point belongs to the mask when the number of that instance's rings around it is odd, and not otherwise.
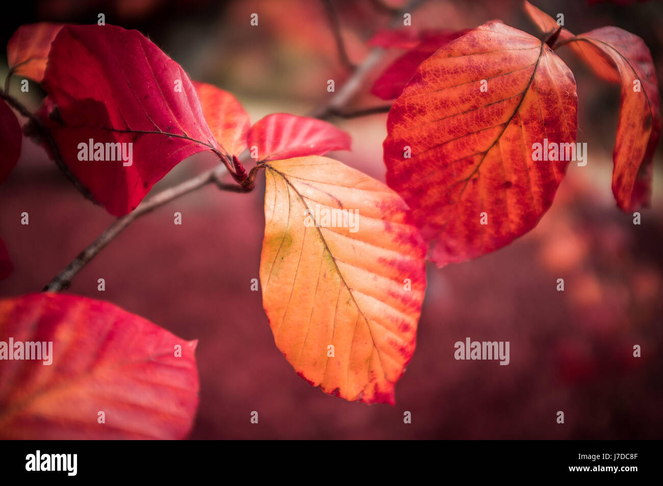
[[[247,133],[251,127],[249,115],[227,91],[219,90],[211,84],[192,83],[216,141],[228,154],[241,154],[247,148]]]

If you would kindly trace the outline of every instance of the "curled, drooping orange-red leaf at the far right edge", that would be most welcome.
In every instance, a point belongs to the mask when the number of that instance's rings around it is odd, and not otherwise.
[[[552,21],[536,7],[525,6],[540,28]],[[649,206],[652,160],[661,131],[660,93],[649,49],[640,37],[619,27],[602,27],[577,36],[565,29],[564,42],[558,45],[568,45],[599,78],[621,82],[613,194],[623,211]]]

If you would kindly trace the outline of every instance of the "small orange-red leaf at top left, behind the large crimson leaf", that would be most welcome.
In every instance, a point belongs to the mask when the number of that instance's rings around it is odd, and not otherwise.
[[[63,24],[40,22],[21,25],[7,42],[7,62],[15,74],[37,82],[44,78],[50,44]]]

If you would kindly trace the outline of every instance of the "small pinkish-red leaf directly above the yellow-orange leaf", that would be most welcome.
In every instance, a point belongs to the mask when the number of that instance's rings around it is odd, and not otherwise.
[[[292,157],[349,151],[351,138],[326,121],[274,113],[257,121],[248,135],[249,148],[257,147],[257,160],[285,160]]]

